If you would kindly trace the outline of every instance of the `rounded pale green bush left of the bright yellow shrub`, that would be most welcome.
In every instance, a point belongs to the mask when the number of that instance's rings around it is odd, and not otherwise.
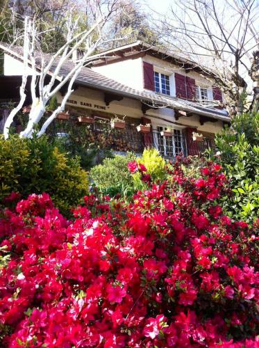
[[[94,166],[90,171],[90,179],[94,185],[105,194],[115,196],[130,196],[133,193],[133,178],[128,171],[127,164],[135,159],[128,153],[126,156],[116,155],[114,158],[106,158],[103,164]]]

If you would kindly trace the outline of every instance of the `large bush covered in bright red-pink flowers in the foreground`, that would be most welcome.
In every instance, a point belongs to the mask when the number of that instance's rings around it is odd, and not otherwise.
[[[185,163],[187,166],[187,162]],[[67,221],[49,196],[1,217],[4,347],[258,347],[258,228],[216,200],[221,167],[181,162],[131,203],[85,196]]]

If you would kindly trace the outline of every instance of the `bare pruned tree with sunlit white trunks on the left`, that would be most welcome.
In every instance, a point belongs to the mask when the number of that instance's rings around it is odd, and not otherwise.
[[[20,87],[21,98],[6,120],[3,129],[3,134],[6,139],[8,138],[9,128],[13,118],[17,112],[22,109],[26,99],[27,92],[25,86],[28,81],[28,68],[31,69],[30,93],[32,105],[26,128],[20,133],[21,137],[26,138],[33,135],[33,132],[35,132],[35,125],[40,122],[49,101],[58,93],[60,88],[66,88],[62,102],[44,122],[40,131],[37,132],[37,136],[44,134],[57,114],[65,109],[67,99],[73,91],[73,84],[83,66],[88,65],[92,61],[91,55],[96,52],[98,47],[106,45],[111,41],[106,35],[106,24],[108,24],[110,17],[117,13],[118,4],[119,1],[117,0],[87,1],[87,25],[85,25],[83,29],[81,24],[85,17],[82,12],[76,10],[74,7],[67,10],[64,17],[64,43],[51,55],[44,54],[42,49],[42,46],[44,47],[44,40],[42,43],[42,35],[44,36],[44,32],[42,33],[42,31],[40,31],[40,29],[44,27],[42,18],[38,18],[36,15],[33,15],[33,17],[24,17],[24,30],[22,33],[24,72],[22,74],[22,86]],[[122,11],[122,8],[120,8],[120,11]],[[48,31],[53,31],[54,29],[55,27],[48,29]],[[77,49],[81,49],[83,53],[81,58],[74,61],[72,70],[60,79],[60,70],[62,70],[67,59],[72,58]],[[50,81],[44,84],[50,72]],[[38,96],[36,95],[37,86],[39,89]]]

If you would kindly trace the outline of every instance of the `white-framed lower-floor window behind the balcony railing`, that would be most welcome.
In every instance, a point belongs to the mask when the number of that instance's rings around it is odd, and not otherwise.
[[[165,129],[166,127],[158,126],[158,132],[154,134],[154,136],[156,136],[155,144],[157,145],[160,155],[164,157],[179,156],[183,153],[181,130],[174,129],[172,136],[162,136],[160,132]]]

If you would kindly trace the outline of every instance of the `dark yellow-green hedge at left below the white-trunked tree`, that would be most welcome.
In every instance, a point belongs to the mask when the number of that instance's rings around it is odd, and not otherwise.
[[[12,191],[47,192],[62,213],[68,214],[88,191],[87,173],[78,157],[67,157],[47,136],[39,139],[0,138],[0,202]]]

